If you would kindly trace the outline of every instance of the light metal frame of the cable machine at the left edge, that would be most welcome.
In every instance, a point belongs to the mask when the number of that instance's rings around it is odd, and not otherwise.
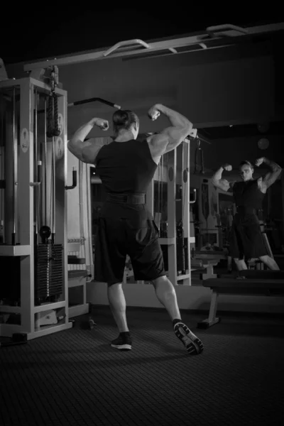
[[[20,141],[15,141],[18,147],[16,160],[18,161],[17,178],[13,185],[17,190],[18,237],[15,244],[12,241],[0,245],[0,256],[21,257],[21,306],[1,305],[0,313],[20,314],[21,325],[0,324],[0,336],[11,337],[14,333],[25,333],[27,339],[34,339],[46,334],[60,332],[72,327],[68,315],[68,271],[67,271],[67,92],[55,88],[58,97],[58,111],[62,114],[63,126],[55,144],[55,242],[63,246],[62,261],[62,295],[58,302],[35,305],[35,234],[34,234],[34,191],[37,183],[35,176],[34,148],[37,143],[34,134],[34,107],[35,90],[43,94],[50,94],[50,86],[31,77],[19,80],[0,82],[0,94],[7,89],[19,89],[20,92]],[[15,126],[15,123],[13,123]],[[27,131],[24,136],[24,131]],[[13,131],[15,135],[15,131]],[[63,143],[60,143],[59,138]],[[6,141],[8,143],[8,141]],[[56,149],[60,147],[60,149]],[[11,159],[12,162],[12,159]],[[48,183],[48,182],[47,182]],[[50,182],[49,182],[50,185]],[[6,218],[8,219],[8,218]],[[9,280],[9,274],[6,274]],[[38,319],[50,310],[62,310],[63,315],[59,322],[43,327],[38,326]]]

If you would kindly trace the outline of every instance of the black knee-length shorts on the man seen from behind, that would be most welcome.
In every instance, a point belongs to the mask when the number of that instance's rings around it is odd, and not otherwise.
[[[122,283],[126,255],[135,280],[155,280],[165,275],[158,227],[146,206],[126,207],[107,203],[97,224],[94,247],[94,280]]]

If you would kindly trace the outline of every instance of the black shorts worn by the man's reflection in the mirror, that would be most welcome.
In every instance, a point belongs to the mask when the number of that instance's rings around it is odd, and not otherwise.
[[[229,256],[252,259],[268,255],[256,214],[234,216],[229,238]]]

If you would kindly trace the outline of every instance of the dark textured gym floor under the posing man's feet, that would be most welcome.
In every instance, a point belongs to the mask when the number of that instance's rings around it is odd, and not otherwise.
[[[0,349],[3,426],[283,425],[283,319],[182,312],[202,339],[189,356],[163,310],[127,311],[131,351],[109,307],[94,307],[94,329],[75,327]],[[80,320],[77,319],[77,320]]]

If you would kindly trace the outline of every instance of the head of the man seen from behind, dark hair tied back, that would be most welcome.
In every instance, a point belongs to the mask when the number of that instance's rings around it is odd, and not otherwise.
[[[130,139],[136,139],[139,132],[139,119],[138,116],[133,111],[129,109],[115,111],[112,116],[113,126],[114,126],[114,136],[118,137],[128,137]],[[133,137],[131,136],[131,133]]]

